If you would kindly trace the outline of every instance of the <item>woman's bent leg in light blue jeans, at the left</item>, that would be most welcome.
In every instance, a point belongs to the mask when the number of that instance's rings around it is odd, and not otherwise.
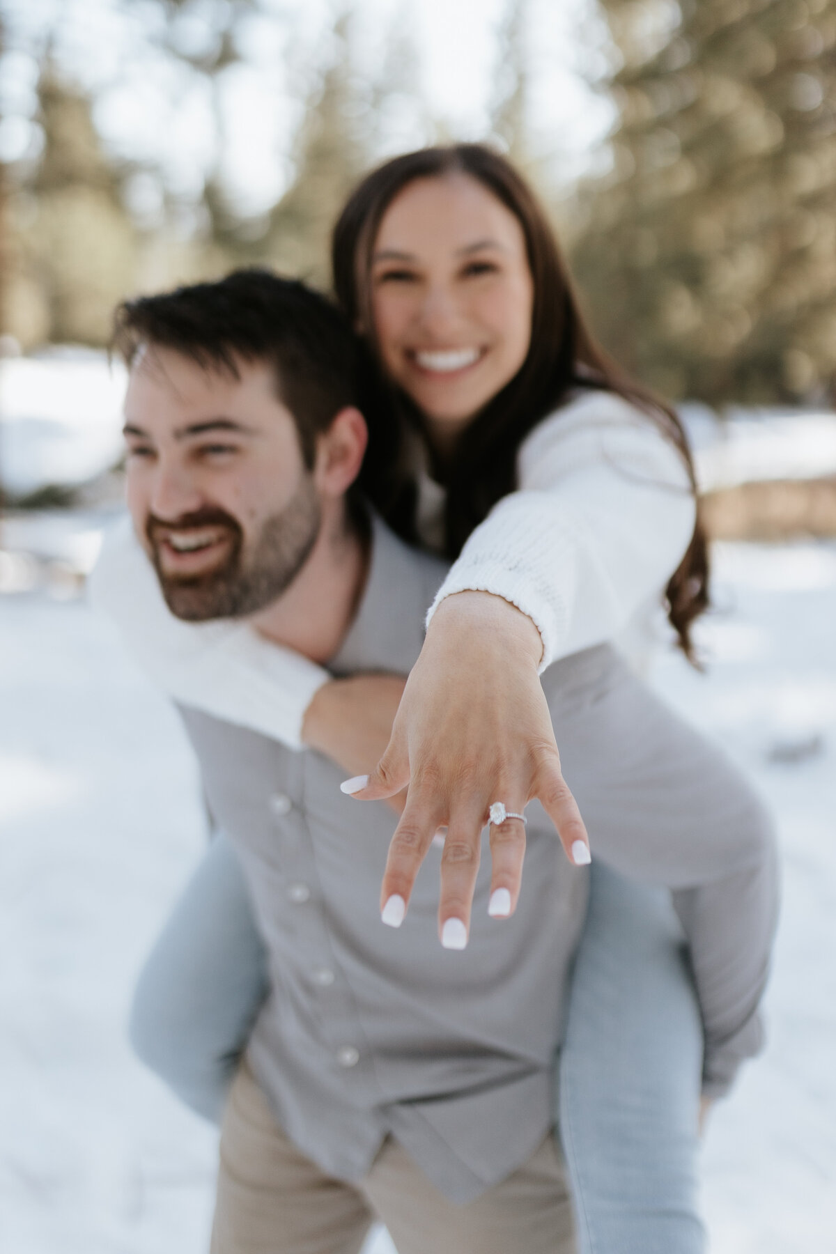
[[[140,972],[130,1042],[187,1106],[219,1122],[266,993],[247,885],[218,833]]]

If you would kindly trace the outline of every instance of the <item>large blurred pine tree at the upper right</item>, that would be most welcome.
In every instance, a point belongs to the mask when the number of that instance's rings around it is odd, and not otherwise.
[[[836,0],[605,0],[613,171],[575,271],[672,396],[813,400],[836,375]]]

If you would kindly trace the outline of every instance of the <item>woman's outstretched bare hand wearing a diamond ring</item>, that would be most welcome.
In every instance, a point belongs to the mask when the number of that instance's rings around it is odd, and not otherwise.
[[[541,642],[530,618],[501,597],[459,592],[439,606],[404,690],[392,736],[368,776],[343,791],[363,801],[409,785],[389,849],[381,892],[385,923],[402,920],[417,869],[439,828],[439,929],[446,948],[462,949],[479,870],[481,830],[501,801],[521,814],[536,798],[567,856],[589,861],[580,811],[560,772],[551,719],[538,677]],[[511,914],[519,897],[525,826],[491,824],[490,914]]]

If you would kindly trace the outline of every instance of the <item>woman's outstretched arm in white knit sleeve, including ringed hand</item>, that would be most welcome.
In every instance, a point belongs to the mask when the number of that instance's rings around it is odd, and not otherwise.
[[[693,530],[679,454],[619,398],[589,394],[543,423],[519,469],[520,490],[476,528],[445,581],[387,751],[353,794],[375,800],[410,786],[384,903],[409,902],[432,833],[449,826],[441,929],[451,918],[469,924],[479,833],[494,801],[521,811],[538,798],[567,853],[588,860],[538,671],[620,631],[661,594]],[[491,895],[504,889],[513,910],[523,824],[508,820],[490,835]]]

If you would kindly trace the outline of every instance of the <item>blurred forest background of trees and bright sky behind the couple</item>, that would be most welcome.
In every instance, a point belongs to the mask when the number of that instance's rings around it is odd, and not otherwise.
[[[712,406],[832,403],[836,0],[577,8],[573,64],[604,119],[583,159],[538,125],[554,6],[533,0],[499,13],[489,124],[464,138],[535,179],[593,325],[647,382]],[[326,285],[357,176],[451,135],[422,94],[409,6],[371,65],[361,9],[302,38],[302,8],[274,0],[0,0],[5,351],[104,345],[124,295],[236,265]],[[258,204],[233,125],[256,73],[281,85],[249,118],[274,135]],[[125,140],[132,108],[157,144]],[[165,132],[196,110],[201,138],[175,155]]]

